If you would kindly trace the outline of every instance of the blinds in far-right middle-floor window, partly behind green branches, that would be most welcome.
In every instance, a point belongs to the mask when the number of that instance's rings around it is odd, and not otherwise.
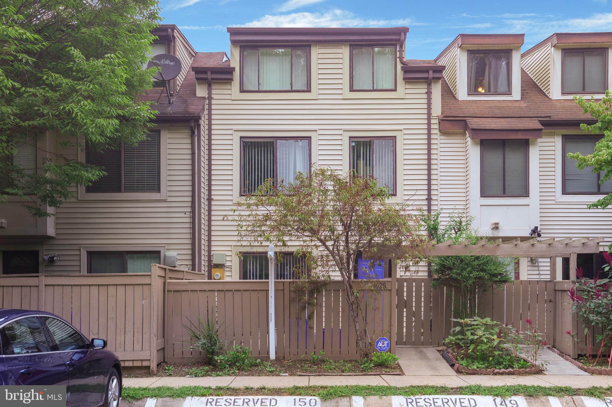
[[[567,157],[567,153],[588,155],[594,152],[597,139],[590,137],[564,137],[564,193],[566,194],[608,194],[612,193],[612,179],[599,183],[600,174],[592,171],[592,167],[582,170],[576,167],[576,160]]]

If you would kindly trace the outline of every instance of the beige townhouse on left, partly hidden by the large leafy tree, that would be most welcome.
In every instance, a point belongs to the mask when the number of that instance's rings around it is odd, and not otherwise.
[[[108,175],[75,191],[75,199],[51,218],[32,218],[18,197],[0,203],[0,219],[6,220],[0,227],[0,274],[142,273],[151,263],[200,270],[205,183],[198,164],[206,99],[196,97],[192,65],[221,63],[227,56],[196,53],[174,24],[162,24],[153,34],[151,56],[171,54],[181,61],[179,75],[168,82],[171,103],[163,82],[140,96],[159,114],[136,146],[105,153],[88,146],[65,149],[62,135],[51,132],[36,145],[20,146],[12,160],[24,167],[40,167],[43,158],[58,153],[102,166]]]

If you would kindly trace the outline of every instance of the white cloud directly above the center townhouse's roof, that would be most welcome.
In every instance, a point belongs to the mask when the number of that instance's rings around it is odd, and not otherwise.
[[[397,20],[371,20],[356,16],[346,10],[331,10],[325,13],[266,14],[258,20],[240,24],[242,27],[382,27],[402,26],[410,23],[409,18]],[[414,25],[414,24],[413,24]]]

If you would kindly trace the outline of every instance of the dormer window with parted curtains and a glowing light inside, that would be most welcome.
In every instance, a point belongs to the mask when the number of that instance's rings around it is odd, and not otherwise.
[[[511,50],[468,51],[468,95],[510,95]]]

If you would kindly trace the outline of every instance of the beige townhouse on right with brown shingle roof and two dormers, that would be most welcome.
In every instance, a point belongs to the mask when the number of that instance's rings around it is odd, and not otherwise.
[[[612,181],[580,171],[569,152],[593,152],[601,136],[573,95],[608,89],[612,33],[556,33],[521,54],[523,35],[460,34],[436,57],[445,65],[439,116],[439,204],[466,206],[483,234],[505,238],[606,238],[612,209],[586,205]],[[536,233],[533,237],[539,236]],[[567,279],[569,260],[521,259],[521,279]],[[593,276],[603,256],[578,255]]]

